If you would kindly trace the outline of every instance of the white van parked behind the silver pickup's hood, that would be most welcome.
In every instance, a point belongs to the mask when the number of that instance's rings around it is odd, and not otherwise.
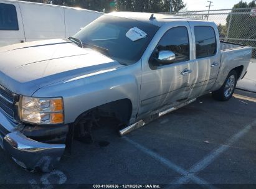
[[[69,37],[102,14],[80,8],[0,0],[0,47]]]

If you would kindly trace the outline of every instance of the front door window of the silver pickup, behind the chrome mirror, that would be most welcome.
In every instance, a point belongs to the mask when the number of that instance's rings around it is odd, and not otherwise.
[[[189,36],[186,27],[174,27],[164,34],[158,43],[158,51],[171,50],[176,55],[175,62],[189,60]]]

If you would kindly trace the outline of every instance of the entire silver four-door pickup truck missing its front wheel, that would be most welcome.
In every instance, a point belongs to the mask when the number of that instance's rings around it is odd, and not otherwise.
[[[212,93],[227,101],[251,47],[217,25],[114,12],[69,39],[0,48],[0,145],[28,170],[51,170],[73,138],[115,122],[120,135]],[[115,120],[115,121],[113,121]]]

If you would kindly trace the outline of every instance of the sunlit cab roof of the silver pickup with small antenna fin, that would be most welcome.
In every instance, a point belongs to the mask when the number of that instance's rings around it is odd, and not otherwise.
[[[178,17],[178,16],[170,16],[166,14],[153,14],[154,19],[150,19],[153,13],[148,12],[111,12],[105,15],[108,16],[116,16],[116,17],[123,17],[126,19],[133,19],[136,21],[147,22],[149,24],[157,25],[161,27],[162,25],[168,22],[174,21],[197,21],[197,22],[208,22],[208,21],[201,21],[199,19],[190,19],[187,17]]]

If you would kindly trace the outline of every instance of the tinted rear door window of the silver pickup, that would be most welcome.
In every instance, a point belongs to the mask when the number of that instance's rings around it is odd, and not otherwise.
[[[196,37],[196,58],[211,57],[216,54],[216,35],[209,26],[194,27]]]

